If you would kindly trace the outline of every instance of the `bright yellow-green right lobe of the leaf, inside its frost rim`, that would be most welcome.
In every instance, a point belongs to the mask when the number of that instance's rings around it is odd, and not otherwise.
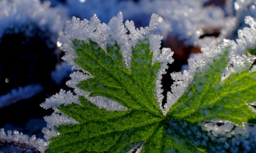
[[[168,115],[189,122],[205,120],[230,120],[239,126],[243,122],[255,123],[256,113],[248,103],[256,100],[256,73],[250,66],[240,73],[233,73],[221,81],[221,74],[227,67],[228,51],[214,57],[204,71],[195,74],[182,97],[172,106]]]

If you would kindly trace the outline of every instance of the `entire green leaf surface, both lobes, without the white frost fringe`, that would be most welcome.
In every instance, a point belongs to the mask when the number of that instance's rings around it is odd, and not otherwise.
[[[60,105],[58,109],[79,124],[56,127],[60,136],[51,139],[47,152],[128,152],[142,144],[141,152],[207,152],[216,144],[200,122],[230,120],[242,126],[256,119],[247,106],[256,99],[256,73],[248,68],[221,81],[230,60],[227,51],[196,72],[183,96],[163,115],[154,92],[161,63],[152,65],[147,43],[140,41],[132,48],[131,69],[125,66],[118,45],[104,51],[93,41],[76,40],[74,49],[75,62],[93,75],[77,87],[128,109],[105,110],[82,96],[81,105]]]

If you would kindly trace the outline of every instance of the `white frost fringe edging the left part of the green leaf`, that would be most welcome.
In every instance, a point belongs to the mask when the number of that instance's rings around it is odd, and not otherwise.
[[[74,59],[77,58],[76,52],[73,49],[73,41],[74,40],[83,40],[84,42],[88,42],[93,40],[99,44],[100,47],[106,50],[107,46],[115,45],[115,42],[121,48],[122,57],[127,68],[131,67],[131,48],[138,43],[138,41],[144,41],[145,38],[148,38],[150,42],[150,50],[153,53],[153,62],[161,61],[163,62],[161,71],[158,72],[157,77],[157,85],[159,86],[156,89],[157,98],[159,99],[159,103],[161,99],[163,99],[163,95],[161,95],[161,75],[165,73],[165,69],[167,68],[167,62],[172,62],[172,52],[170,49],[164,48],[163,50],[159,50],[161,43],[161,36],[150,34],[150,31],[156,29],[157,26],[157,15],[152,15],[152,22],[150,22],[149,27],[135,29],[134,25],[128,24],[132,23],[127,21],[124,25],[122,13],[118,13],[118,15],[112,18],[108,25],[101,24],[96,15],[89,20],[79,20],[78,18],[72,18],[71,21],[67,22],[67,26],[65,28],[65,33],[61,36],[59,42],[63,44],[61,49],[66,52],[65,59],[68,64],[72,65],[73,69],[80,69],[82,71],[75,71],[70,75],[71,80],[67,82],[69,87],[74,88],[74,94],[72,92],[61,90],[60,93],[52,96],[47,99],[45,103],[42,103],[42,107],[54,108],[55,112],[52,113],[51,116],[45,117],[45,121],[47,122],[47,128],[43,129],[43,133],[45,134],[45,138],[49,139],[55,136],[58,136],[59,133],[54,128],[55,126],[60,126],[61,124],[70,124],[76,123],[76,120],[72,120],[65,115],[63,115],[57,107],[61,104],[69,105],[70,103],[77,103],[79,105],[80,102],[77,99],[78,96],[87,97],[93,104],[99,106],[100,108],[106,108],[108,110],[127,110],[124,106],[116,103],[113,99],[106,98],[104,96],[89,96],[90,92],[86,92],[78,88],[76,85],[82,80],[86,80],[92,78],[93,76],[90,73],[84,71],[84,69],[79,68],[76,63],[74,63]],[[76,27],[76,30],[74,30]],[[78,33],[79,31],[79,33]],[[130,34],[127,34],[127,31],[130,31]],[[133,34],[133,35],[132,35]],[[129,40],[131,38],[131,40]],[[145,43],[148,44],[147,41]],[[97,55],[97,53],[95,52]],[[113,58],[114,55],[112,55]]]

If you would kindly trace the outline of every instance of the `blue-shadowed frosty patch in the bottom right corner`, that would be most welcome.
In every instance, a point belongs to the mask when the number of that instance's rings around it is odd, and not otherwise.
[[[218,145],[223,146],[224,149],[230,150],[230,152],[238,152],[239,148],[243,148],[244,152],[251,152],[255,149],[255,126],[246,124],[242,128],[234,125],[232,122],[223,121],[208,122],[203,126],[206,131],[209,131],[211,139],[218,143]],[[223,148],[212,147],[212,151],[223,152]]]

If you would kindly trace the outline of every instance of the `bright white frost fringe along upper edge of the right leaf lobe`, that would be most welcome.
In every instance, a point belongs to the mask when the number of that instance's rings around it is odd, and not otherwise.
[[[170,106],[179,99],[186,87],[190,84],[195,75],[196,71],[202,71],[201,68],[205,68],[205,64],[212,61],[212,57],[220,54],[222,50],[230,47],[230,63],[228,67],[223,71],[223,79],[227,78],[231,73],[239,73],[242,69],[250,67],[252,62],[255,60],[255,56],[244,55],[247,49],[254,49],[256,45],[255,41],[255,20],[252,17],[245,18],[246,24],[250,24],[251,27],[244,27],[244,29],[239,30],[239,38],[234,41],[224,40],[225,43],[219,47],[204,47],[202,48],[203,54],[195,55],[193,58],[189,59],[189,70],[185,70],[182,73],[172,73],[172,78],[175,82],[172,85],[172,92],[168,93],[168,101],[170,101]],[[254,34],[254,35],[253,35]],[[191,95],[192,96],[192,95]],[[172,104],[172,105],[171,105]],[[168,108],[170,108],[168,106]],[[167,109],[168,109],[167,108]]]

